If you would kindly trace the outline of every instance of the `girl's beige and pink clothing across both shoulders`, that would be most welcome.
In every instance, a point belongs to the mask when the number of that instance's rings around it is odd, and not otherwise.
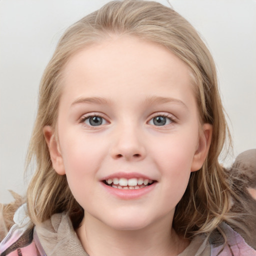
[[[0,243],[0,256],[89,256],[83,249],[66,213],[57,213],[50,219],[26,228],[29,219],[18,219]],[[214,247],[204,235],[195,236],[190,244],[177,256],[256,256],[244,239],[230,226],[222,223],[227,244]],[[103,256],[103,255],[102,255]]]

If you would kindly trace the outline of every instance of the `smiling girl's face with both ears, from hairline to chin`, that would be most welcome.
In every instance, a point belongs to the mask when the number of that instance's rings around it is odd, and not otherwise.
[[[116,229],[171,223],[191,171],[207,154],[187,65],[163,46],[115,36],[64,70],[52,164],[86,215]]]

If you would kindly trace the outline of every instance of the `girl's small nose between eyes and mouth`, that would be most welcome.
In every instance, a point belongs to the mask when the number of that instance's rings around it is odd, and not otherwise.
[[[115,132],[111,148],[112,158],[136,161],[142,160],[145,155],[145,144],[141,132],[132,127],[120,128]]]

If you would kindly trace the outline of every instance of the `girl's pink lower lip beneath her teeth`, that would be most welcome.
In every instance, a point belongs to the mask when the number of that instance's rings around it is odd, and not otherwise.
[[[104,189],[107,190],[107,192],[109,192],[110,194],[121,198],[121,199],[136,199],[139,197],[142,197],[143,195],[149,193],[151,190],[154,189],[155,185],[157,182],[152,183],[149,186],[145,186],[142,188],[138,188],[138,189],[119,189],[119,188],[114,188],[111,186],[108,186],[106,184],[104,184],[103,182],[101,182],[101,184],[103,185]]]

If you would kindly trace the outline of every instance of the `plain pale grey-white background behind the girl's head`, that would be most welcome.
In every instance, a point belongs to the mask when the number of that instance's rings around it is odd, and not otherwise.
[[[108,0],[0,0],[0,202],[23,193],[40,77],[64,29]],[[167,1],[160,1],[168,5]],[[216,61],[234,155],[256,148],[256,1],[170,0]],[[232,156],[226,160],[228,165]]]

